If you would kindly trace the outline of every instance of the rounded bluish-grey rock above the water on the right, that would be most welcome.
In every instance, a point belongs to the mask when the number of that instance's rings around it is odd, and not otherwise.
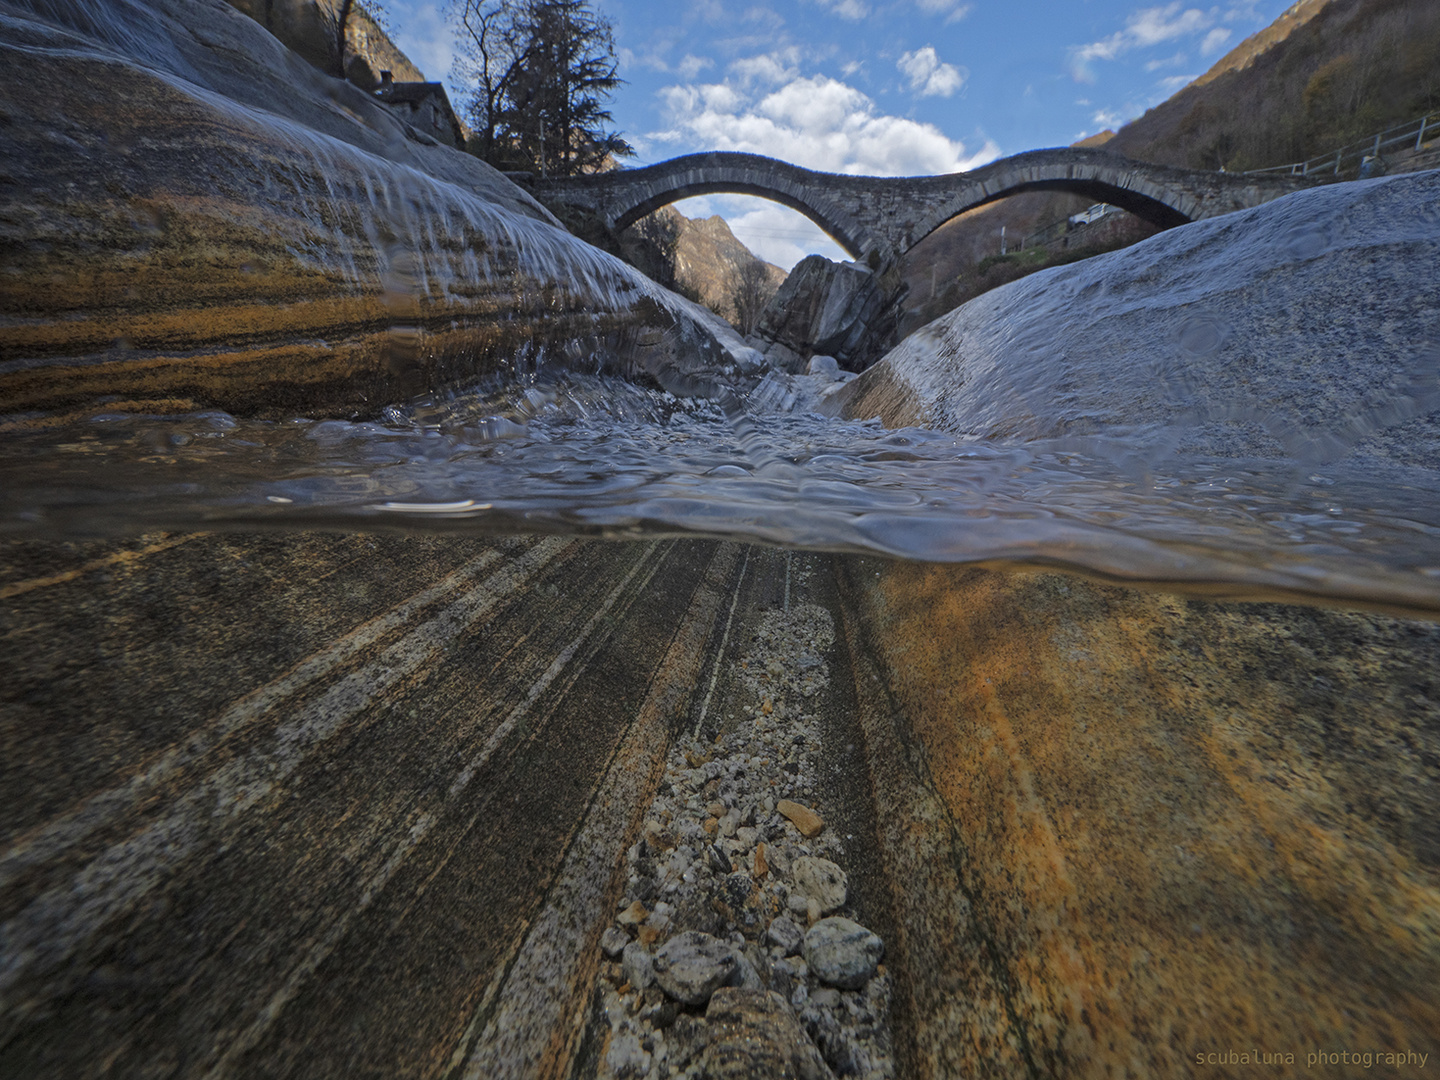
[[[917,330],[847,415],[1109,456],[1440,467],[1440,173],[1302,192]]]

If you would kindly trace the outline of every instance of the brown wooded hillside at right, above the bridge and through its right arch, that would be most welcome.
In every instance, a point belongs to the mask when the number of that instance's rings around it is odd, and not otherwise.
[[[1440,0],[1299,0],[1104,147],[1142,161],[1243,171],[1303,161],[1440,109]],[[1440,128],[1437,128],[1440,137]],[[1022,194],[955,219],[906,261],[909,331],[1025,274],[1151,235],[1135,222],[1015,255],[1087,200]],[[1001,228],[1011,255],[999,258]]]

